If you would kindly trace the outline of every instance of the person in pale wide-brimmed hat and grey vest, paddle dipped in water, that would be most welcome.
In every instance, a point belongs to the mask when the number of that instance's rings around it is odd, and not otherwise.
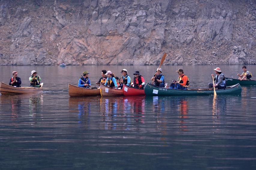
[[[216,84],[209,83],[208,88],[211,90],[213,87],[216,87],[218,89],[225,89],[226,88],[226,79],[225,76],[222,74],[221,69],[219,67],[213,69],[215,71],[216,77],[214,80],[216,80]],[[213,74],[211,76],[214,76]]]

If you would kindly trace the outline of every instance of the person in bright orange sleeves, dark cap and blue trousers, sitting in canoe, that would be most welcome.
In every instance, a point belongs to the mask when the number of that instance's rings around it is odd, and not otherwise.
[[[178,81],[174,80],[170,85],[170,89],[187,89],[189,85],[188,76],[184,74],[182,68],[179,68],[176,72],[179,74]]]

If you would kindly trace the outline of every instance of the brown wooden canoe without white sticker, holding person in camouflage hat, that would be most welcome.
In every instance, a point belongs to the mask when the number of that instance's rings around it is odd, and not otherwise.
[[[100,88],[83,88],[78,87],[76,85],[68,84],[68,95],[70,97],[76,97],[76,96],[100,96],[101,91]]]

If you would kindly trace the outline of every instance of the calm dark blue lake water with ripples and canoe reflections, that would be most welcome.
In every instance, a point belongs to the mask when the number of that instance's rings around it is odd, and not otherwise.
[[[120,77],[139,70],[150,82],[158,66],[0,66],[0,81],[18,71],[22,86],[36,70],[43,93],[0,95],[1,169],[256,169],[256,87],[241,95],[69,97],[89,71]],[[217,66],[163,66],[165,81],[182,67],[191,86],[207,88]],[[219,66],[235,78],[242,66]],[[256,75],[256,66],[248,66]],[[133,75],[132,75],[133,76]],[[253,77],[253,79],[255,79]]]

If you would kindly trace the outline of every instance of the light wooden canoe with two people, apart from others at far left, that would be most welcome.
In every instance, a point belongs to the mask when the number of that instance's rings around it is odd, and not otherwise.
[[[0,93],[3,94],[29,94],[29,93],[37,93],[43,91],[43,84],[41,83],[41,87],[14,87],[8,84],[1,82],[0,84]]]

